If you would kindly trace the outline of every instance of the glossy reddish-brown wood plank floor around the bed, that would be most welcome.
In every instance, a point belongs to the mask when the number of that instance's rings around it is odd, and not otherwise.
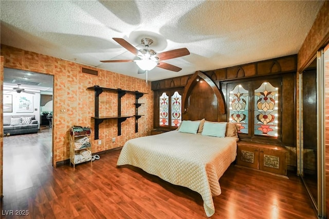
[[[198,193],[138,168],[117,168],[119,150],[75,170],[52,168],[50,142],[48,130],[4,138],[1,218],[207,218]],[[220,184],[212,218],[317,218],[294,174],[231,166]]]

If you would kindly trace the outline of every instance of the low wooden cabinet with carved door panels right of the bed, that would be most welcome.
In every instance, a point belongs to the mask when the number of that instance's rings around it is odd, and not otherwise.
[[[239,141],[236,165],[286,176],[287,153],[282,146]]]

